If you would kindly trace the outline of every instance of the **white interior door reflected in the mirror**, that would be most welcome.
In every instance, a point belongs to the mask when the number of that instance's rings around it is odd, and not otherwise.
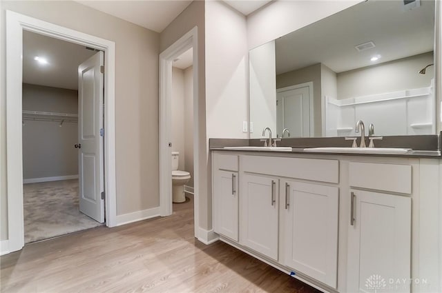
[[[288,128],[291,137],[310,137],[309,91],[310,88],[305,86],[277,94],[276,99],[280,105],[278,114],[282,112],[282,126],[279,128]],[[282,129],[278,129],[278,133]]]

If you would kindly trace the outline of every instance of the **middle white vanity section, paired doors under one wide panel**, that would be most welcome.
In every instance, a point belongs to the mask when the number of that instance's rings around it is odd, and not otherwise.
[[[327,184],[338,183],[338,161],[244,155],[240,164],[240,244],[336,288],[339,190]]]

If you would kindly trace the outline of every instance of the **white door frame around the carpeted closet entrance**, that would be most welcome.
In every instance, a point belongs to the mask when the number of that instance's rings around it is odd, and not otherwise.
[[[8,251],[21,250],[24,245],[23,221],[23,156],[21,125],[21,86],[23,30],[43,34],[103,50],[104,73],[104,181],[106,225],[117,225],[115,185],[115,42],[90,34],[57,26],[17,12],[6,10],[6,152],[8,192]]]

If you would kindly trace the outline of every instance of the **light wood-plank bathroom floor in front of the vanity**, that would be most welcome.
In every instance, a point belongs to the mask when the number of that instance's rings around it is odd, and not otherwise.
[[[318,292],[220,241],[193,237],[193,202],[172,216],[99,227],[1,256],[1,292]]]

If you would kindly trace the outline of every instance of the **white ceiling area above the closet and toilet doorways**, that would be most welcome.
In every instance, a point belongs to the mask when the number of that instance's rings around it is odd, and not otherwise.
[[[155,32],[162,32],[192,1],[77,1],[83,5],[111,14]]]

